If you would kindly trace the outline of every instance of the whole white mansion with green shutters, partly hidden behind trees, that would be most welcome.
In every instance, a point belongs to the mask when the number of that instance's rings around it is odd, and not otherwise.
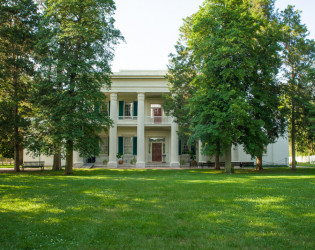
[[[114,121],[109,133],[104,132],[101,154],[84,159],[74,152],[74,165],[94,163],[95,166],[118,167],[117,153],[123,155],[124,166],[145,168],[163,165],[173,168],[189,164],[189,151],[196,154],[198,162],[212,160],[201,153],[201,144],[187,146],[179,140],[178,125],[163,110],[162,94],[168,93],[165,71],[120,71],[112,76],[110,89],[104,88],[110,118]],[[107,111],[99,107],[99,111]],[[233,147],[232,161],[252,161],[255,159],[244,153],[241,146]],[[39,159],[40,158],[40,159]],[[280,138],[267,147],[263,164],[287,165],[289,146],[287,138]],[[52,156],[36,159],[24,153],[24,161],[41,160],[52,165]],[[224,157],[220,159],[224,161]],[[64,162],[62,163],[64,165]]]

